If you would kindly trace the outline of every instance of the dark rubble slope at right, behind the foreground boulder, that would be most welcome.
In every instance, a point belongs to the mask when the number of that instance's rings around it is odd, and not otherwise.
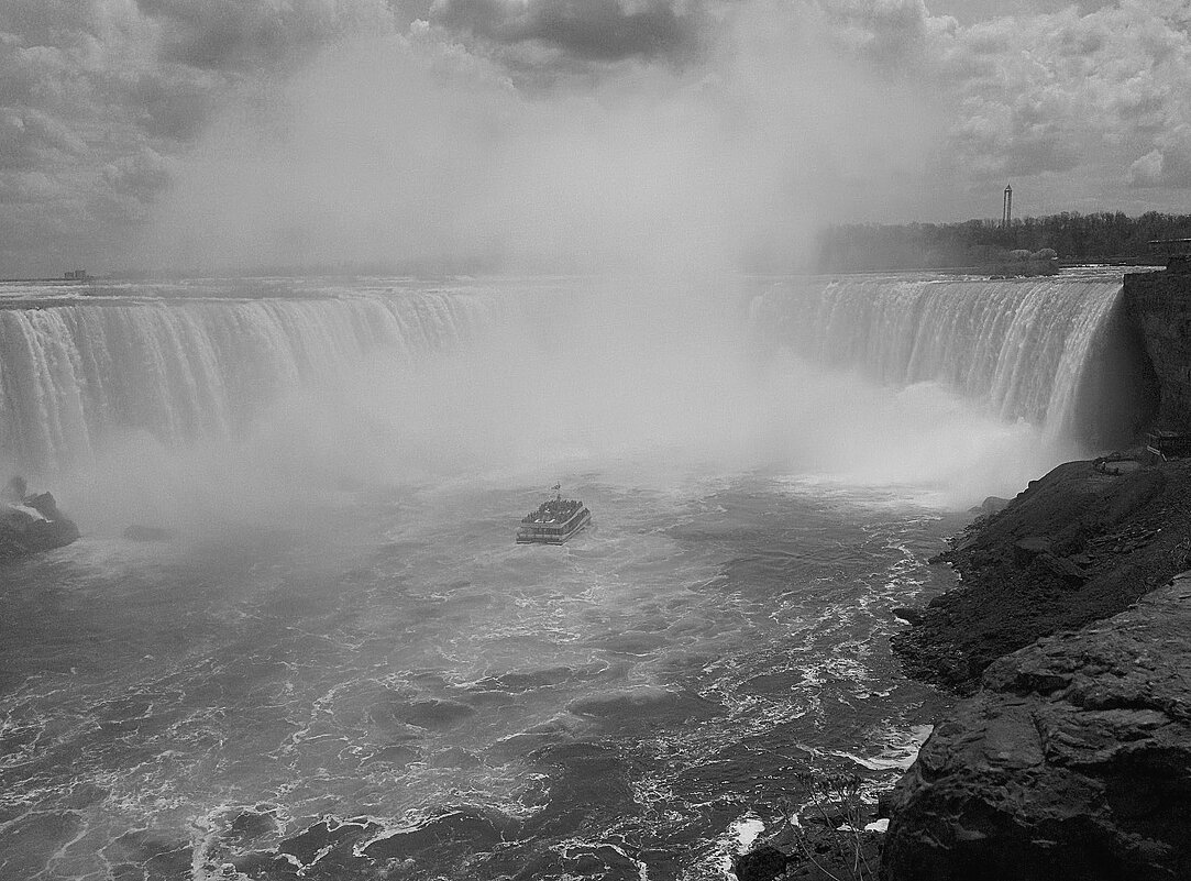
[[[1039,637],[1116,614],[1191,554],[1191,460],[1108,474],[1068,462],[937,560],[961,585],[893,639],[905,670],[971,694],[993,661]]]

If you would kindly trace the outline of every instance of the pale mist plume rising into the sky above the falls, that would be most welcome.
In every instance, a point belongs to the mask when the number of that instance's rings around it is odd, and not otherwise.
[[[425,23],[353,38],[219,114],[141,260],[189,273],[798,265],[823,221],[908,198],[936,149],[929,99],[838,57],[822,17],[746,4],[690,56],[534,75]]]

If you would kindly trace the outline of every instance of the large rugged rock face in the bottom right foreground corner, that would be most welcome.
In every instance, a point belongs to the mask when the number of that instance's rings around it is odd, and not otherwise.
[[[886,881],[1191,879],[1191,573],[989,667],[898,785]]]

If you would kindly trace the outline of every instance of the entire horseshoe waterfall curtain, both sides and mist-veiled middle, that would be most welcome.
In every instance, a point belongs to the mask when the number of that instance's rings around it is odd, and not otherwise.
[[[807,361],[894,387],[943,383],[993,415],[1068,437],[1089,412],[1089,388],[1104,410],[1122,408],[1111,394],[1128,398],[1111,387],[1123,371],[1106,369],[1099,352],[1111,345],[1098,343],[1120,289],[1105,279],[781,281],[753,299],[752,327]],[[0,290],[0,471],[86,468],[129,432],[166,446],[235,439],[288,393],[333,402],[350,389],[357,399],[378,370],[405,376],[405,367],[460,349],[488,361],[475,368],[485,375],[473,393],[453,392],[453,437],[517,436],[548,402],[607,443],[624,433],[644,443],[654,426],[666,442],[690,444],[697,432],[719,437],[748,423],[729,405],[759,389],[732,363],[734,349],[707,343],[732,333],[690,298],[590,280],[8,288]],[[480,339],[499,352],[479,351]],[[700,373],[717,358],[713,374]],[[556,379],[559,360],[582,367],[541,386]],[[526,383],[535,370],[544,373]],[[410,437],[441,408],[437,394],[476,380],[411,392],[406,402],[420,404],[394,414],[409,419],[399,433]],[[338,413],[326,418],[353,418]],[[300,419],[291,425],[301,430]]]

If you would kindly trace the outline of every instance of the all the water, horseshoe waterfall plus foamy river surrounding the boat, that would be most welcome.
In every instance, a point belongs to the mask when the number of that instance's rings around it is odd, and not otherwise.
[[[0,876],[727,877],[912,760],[959,512],[1143,414],[1120,287],[0,288],[0,462],[83,532],[0,568]]]

